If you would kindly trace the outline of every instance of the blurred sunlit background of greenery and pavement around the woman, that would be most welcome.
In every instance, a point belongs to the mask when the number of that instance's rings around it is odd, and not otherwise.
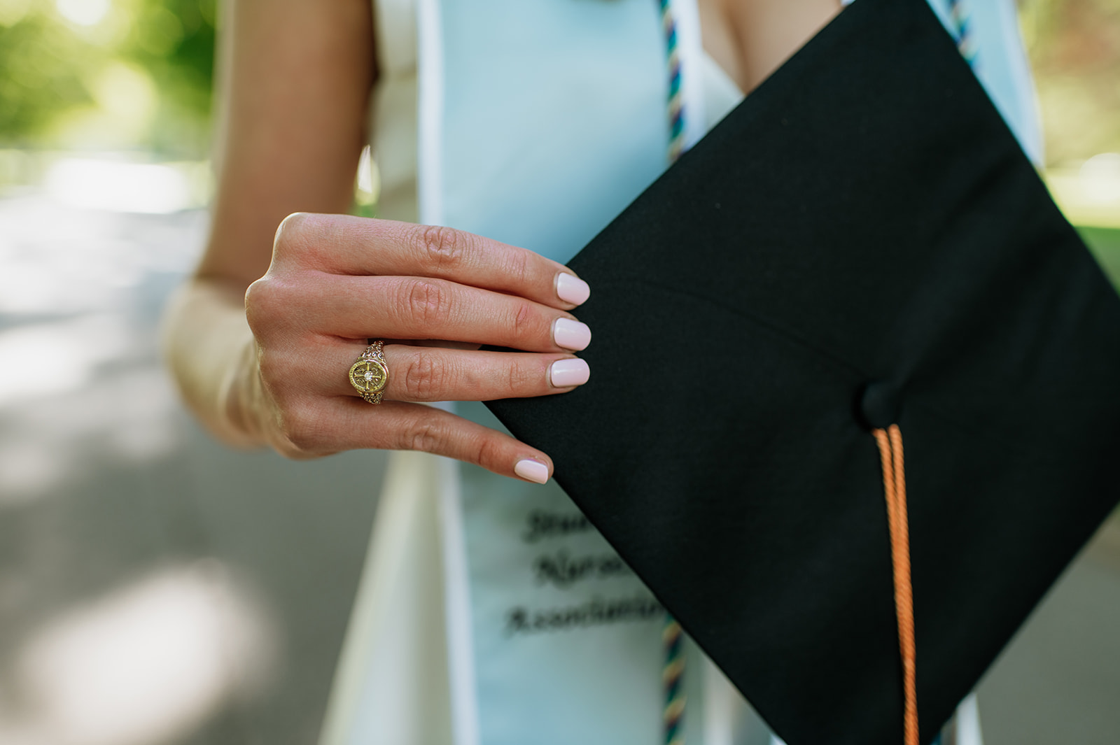
[[[383,460],[227,452],[158,364],[218,10],[0,0],[0,745],[295,745],[323,716]],[[1020,11],[1047,182],[1120,276],[1120,0]],[[1120,743],[1120,527],[980,692],[989,745]]]

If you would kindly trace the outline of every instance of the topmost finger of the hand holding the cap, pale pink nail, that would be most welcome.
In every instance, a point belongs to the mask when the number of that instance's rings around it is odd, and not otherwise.
[[[349,215],[288,216],[276,258],[335,274],[429,276],[520,295],[570,310],[590,295],[587,283],[559,262],[528,248],[432,225]]]

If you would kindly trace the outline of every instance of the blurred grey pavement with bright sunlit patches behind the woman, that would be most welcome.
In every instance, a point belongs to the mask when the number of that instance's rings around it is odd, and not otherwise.
[[[2,745],[315,741],[384,458],[233,453],[183,413],[156,327],[204,229],[0,200]],[[1113,520],[982,682],[986,742],[1116,745],[1118,702]]]

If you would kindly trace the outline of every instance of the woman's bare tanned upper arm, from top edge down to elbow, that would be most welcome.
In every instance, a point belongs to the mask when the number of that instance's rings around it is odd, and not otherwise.
[[[293,211],[345,213],[375,76],[368,0],[231,0],[218,58],[217,199],[200,277],[264,274]]]

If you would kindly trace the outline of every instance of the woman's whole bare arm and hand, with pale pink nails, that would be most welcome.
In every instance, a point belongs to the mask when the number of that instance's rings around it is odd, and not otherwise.
[[[233,445],[268,443],[296,458],[424,450],[547,480],[544,453],[422,402],[571,390],[587,379],[571,352],[589,333],[567,311],[587,285],[484,238],[330,216],[348,208],[367,142],[372,4],[222,8],[211,235],[164,327],[184,400]],[[283,219],[293,209],[324,214]],[[347,379],[367,339],[389,342],[376,406]],[[431,341],[442,345],[423,346]]]

